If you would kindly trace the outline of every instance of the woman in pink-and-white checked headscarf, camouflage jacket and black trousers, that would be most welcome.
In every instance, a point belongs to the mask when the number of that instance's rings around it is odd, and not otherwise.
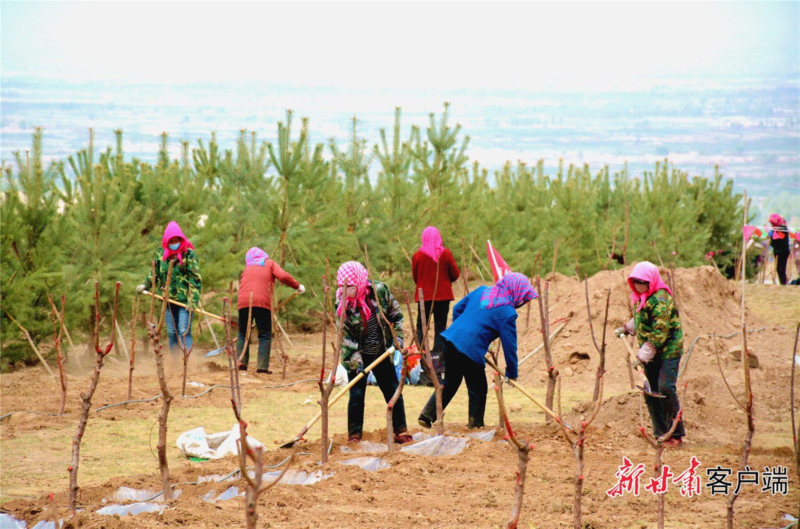
[[[363,371],[364,366],[373,363],[392,347],[392,329],[402,348],[402,312],[400,304],[385,284],[367,281],[366,268],[360,262],[343,263],[336,273],[336,280],[339,286],[336,291],[336,315],[344,319],[342,366],[347,371],[348,380],[353,380],[359,371]],[[391,328],[382,321],[381,311],[391,323]],[[390,356],[378,363],[372,372],[383,398],[388,403],[399,385],[397,371],[394,371]],[[362,377],[350,388],[350,402],[347,405],[348,443],[361,441],[365,393],[366,377]],[[392,427],[395,443],[409,443],[412,440],[406,434],[408,427],[402,395],[392,411]]]

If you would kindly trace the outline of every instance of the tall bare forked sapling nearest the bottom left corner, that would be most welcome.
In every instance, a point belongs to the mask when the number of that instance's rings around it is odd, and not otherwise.
[[[92,406],[94,391],[98,388],[100,381],[100,370],[102,369],[103,359],[114,347],[114,322],[117,320],[117,303],[119,301],[119,282],[117,282],[114,293],[114,309],[111,312],[111,332],[109,344],[105,349],[100,348],[100,283],[94,282],[94,352],[97,355],[95,360],[94,372],[89,383],[89,390],[81,394],[81,415],[78,418],[78,430],[72,439],[72,464],[67,467],[70,471],[70,511],[73,512],[74,519],[78,517],[78,464],[81,461],[81,440],[86,431],[86,422],[89,420],[89,409]]]

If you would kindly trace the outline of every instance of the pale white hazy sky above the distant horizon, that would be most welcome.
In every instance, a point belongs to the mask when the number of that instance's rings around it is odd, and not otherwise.
[[[2,74],[365,88],[797,78],[800,2],[2,2]]]

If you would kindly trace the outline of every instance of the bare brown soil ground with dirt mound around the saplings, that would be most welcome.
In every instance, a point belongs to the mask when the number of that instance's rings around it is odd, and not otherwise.
[[[626,367],[626,350],[611,334],[630,318],[627,303],[626,271],[603,271],[589,279],[589,296],[594,331],[598,343],[602,333],[602,312],[606,289],[611,289],[609,323],[606,335],[605,391],[598,418],[590,427],[586,444],[586,469],[583,495],[585,527],[655,527],[656,499],[644,485],[653,475],[654,451],[638,436],[641,397],[630,390]],[[666,278],[668,271],[662,271]],[[681,310],[682,325],[688,351],[686,368],[678,383],[686,384],[682,398],[687,435],[678,449],[665,451],[665,463],[675,475],[686,470],[694,455],[700,462],[702,483],[707,483],[705,469],[730,467],[735,483],[746,431],[744,415],[737,409],[719,374],[714,343],[702,335],[730,335],[739,330],[739,291],[713,267],[678,269],[674,283]],[[552,279],[552,278],[551,278]],[[458,289],[461,290],[460,288]],[[794,325],[800,318],[800,291],[793,287],[752,286],[747,290],[747,325],[762,329],[748,335],[748,347],[758,357],[758,368],[751,371],[754,387],[756,432],[750,467],[787,467],[788,494],[773,495],[761,487],[745,485],[735,504],[736,527],[783,527],[785,513],[798,515],[800,487],[794,467],[790,423],[790,368],[794,343]],[[519,357],[541,343],[538,307],[526,309],[518,319]],[[561,320],[559,322],[558,320]],[[579,423],[590,414],[598,354],[592,345],[587,318],[584,287],[577,279],[557,275],[550,282],[551,330],[566,323],[553,341],[554,361],[562,373],[563,408],[566,421]],[[406,323],[406,327],[408,324]],[[698,339],[698,337],[700,337]],[[242,377],[243,415],[248,431],[267,447],[266,461],[274,464],[290,453],[278,444],[294,435],[318,410],[318,390],[314,383],[299,382],[318,376],[321,335],[292,335],[292,347],[286,379],[280,376],[278,355],[273,355],[274,375]],[[742,369],[728,350],[741,343],[741,335],[718,339],[722,369],[736,395],[742,394]],[[158,395],[154,376],[153,355],[143,354],[138,346],[138,368],[134,377],[134,399]],[[276,348],[274,347],[274,351]],[[201,356],[206,351],[197,351]],[[221,357],[217,357],[220,359]],[[196,361],[190,369],[190,380],[210,384],[226,384],[228,374],[222,360]],[[275,367],[278,367],[276,369]],[[180,395],[178,366],[170,370],[170,388]],[[487,381],[490,371],[486,372]],[[56,503],[67,504],[71,439],[80,408],[79,393],[86,391],[89,375],[75,372],[68,380],[65,416],[14,413],[0,423],[2,447],[2,511],[29,523],[46,519],[46,495],[52,491]],[[539,351],[520,368],[520,383],[539,399],[544,399],[546,373],[543,353]],[[298,382],[292,386],[286,383]],[[206,387],[190,387],[187,393],[198,395]],[[526,483],[525,503],[520,527],[571,527],[574,459],[571,451],[552,423],[530,400],[511,387],[504,389],[514,410],[510,419],[523,439],[530,438],[534,450]],[[447,408],[446,429],[456,435],[466,432],[466,391],[458,394]],[[800,388],[798,388],[800,394]],[[416,417],[430,395],[430,388],[406,387],[406,416],[410,431],[420,431]],[[112,361],[102,371],[93,410],[106,404],[126,400],[126,362]],[[59,402],[58,381],[44,374],[39,367],[2,375],[0,407],[2,415],[11,411],[54,413]],[[795,407],[800,395],[795,395]],[[308,402],[306,402],[308,401]],[[490,392],[486,423],[497,423],[494,396]],[[158,416],[160,402],[131,403],[103,411],[93,411],[82,443],[79,503],[83,527],[243,527],[243,499],[206,503],[199,497],[212,489],[221,492],[225,483],[182,484],[182,495],[169,503],[163,514],[137,516],[98,515],[102,499],[118,487],[161,490],[158,466],[150,454],[156,443],[157,428],[151,427]],[[471,440],[459,455],[426,457],[403,452],[382,454],[389,468],[364,471],[345,466],[342,459],[354,457],[342,453],[346,443],[346,405],[338,403],[331,411],[330,429],[334,444],[329,463],[323,473],[334,474],[308,486],[279,485],[266,493],[258,508],[259,527],[500,527],[504,525],[514,488],[516,455],[506,443]],[[648,430],[646,410],[643,422]],[[227,474],[237,466],[234,458],[193,463],[184,459],[174,446],[182,431],[204,426],[206,431],[230,430],[234,417],[230,411],[230,390],[215,388],[196,399],[176,397],[170,412],[168,456],[173,483],[196,482],[199,475]],[[496,426],[495,426],[496,427]],[[300,444],[312,455],[298,457],[298,467],[317,470],[322,449],[319,427]],[[367,391],[365,438],[385,443],[385,404],[377,387]],[[488,427],[487,429],[490,429]],[[150,439],[152,436],[152,439]],[[614,473],[627,457],[634,464],[644,463],[642,491],[638,496],[626,494],[610,498],[606,491],[617,483]],[[710,495],[706,487],[693,498],[680,495],[671,484],[666,495],[666,527],[722,527],[726,495]]]

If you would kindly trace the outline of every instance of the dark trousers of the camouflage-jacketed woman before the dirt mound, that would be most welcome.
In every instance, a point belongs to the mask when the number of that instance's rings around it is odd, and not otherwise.
[[[653,391],[664,395],[663,399],[645,395],[647,411],[653,421],[653,434],[656,437],[666,434],[672,427],[672,421],[678,415],[681,404],[678,402],[678,391],[675,390],[675,381],[678,379],[678,364],[681,357],[674,359],[653,359],[645,366],[645,375]],[[683,430],[683,419],[678,422],[672,437],[675,439],[686,435]]]

